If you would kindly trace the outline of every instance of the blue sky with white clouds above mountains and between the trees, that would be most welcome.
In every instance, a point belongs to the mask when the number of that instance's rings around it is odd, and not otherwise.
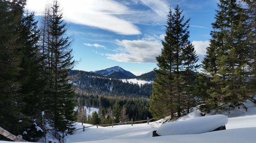
[[[135,75],[157,68],[167,14],[179,5],[190,18],[189,40],[199,62],[209,45],[218,0],[59,0],[67,35],[71,36],[74,69],[96,71],[120,66]],[[40,19],[50,0],[28,0],[26,9]],[[40,22],[39,22],[40,23]]]

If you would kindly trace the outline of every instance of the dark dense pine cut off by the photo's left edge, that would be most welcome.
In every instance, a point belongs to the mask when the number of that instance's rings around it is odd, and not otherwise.
[[[20,48],[18,25],[22,20],[24,1],[0,1],[0,126],[18,135],[16,125],[23,118],[19,93]]]

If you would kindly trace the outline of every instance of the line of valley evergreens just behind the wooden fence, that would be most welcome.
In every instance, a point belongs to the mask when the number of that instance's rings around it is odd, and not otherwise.
[[[127,97],[106,97],[95,95],[76,95],[77,122],[89,124],[112,124],[127,121],[140,121],[152,118],[149,111],[149,100],[147,98],[127,98]],[[98,113],[86,116],[87,107],[99,108]],[[97,122],[96,122],[97,121]]]

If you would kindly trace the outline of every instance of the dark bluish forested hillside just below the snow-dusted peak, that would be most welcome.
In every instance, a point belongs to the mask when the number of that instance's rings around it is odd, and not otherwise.
[[[76,90],[92,94],[148,98],[152,91],[151,83],[123,82],[93,72],[72,70],[69,73],[69,78]]]

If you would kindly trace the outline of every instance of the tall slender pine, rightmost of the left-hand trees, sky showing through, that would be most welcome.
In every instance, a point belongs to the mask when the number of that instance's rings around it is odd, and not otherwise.
[[[66,23],[63,22],[57,1],[53,2],[49,13],[47,71],[49,79],[46,111],[53,121],[52,126],[62,134],[73,128],[74,121],[74,91],[68,82],[68,72],[73,68],[74,61],[70,49],[69,37],[66,37]]]

